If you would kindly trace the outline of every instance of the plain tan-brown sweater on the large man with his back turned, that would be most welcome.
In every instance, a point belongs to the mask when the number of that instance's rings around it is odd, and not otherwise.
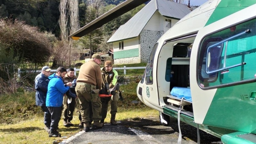
[[[95,85],[96,89],[101,89],[102,78],[100,65],[93,59],[84,63],[80,67],[79,74],[76,79],[76,83],[78,82]]]

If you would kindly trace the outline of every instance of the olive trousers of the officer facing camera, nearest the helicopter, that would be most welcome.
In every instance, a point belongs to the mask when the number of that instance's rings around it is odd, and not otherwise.
[[[110,110],[110,114],[111,115],[115,115],[117,113],[117,107],[118,107],[118,100],[119,100],[119,92],[116,92],[115,95],[112,95],[111,97],[101,97],[101,116],[102,116],[102,120],[104,120],[107,117],[107,113],[108,113],[108,102],[111,99],[111,110]]]

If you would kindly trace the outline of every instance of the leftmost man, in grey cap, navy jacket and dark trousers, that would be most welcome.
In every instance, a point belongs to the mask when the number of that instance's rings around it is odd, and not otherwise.
[[[49,78],[51,74],[51,68],[48,66],[44,66],[42,68],[42,71],[40,74],[36,76],[35,79],[35,89],[36,89],[36,105],[41,106],[43,112],[44,112],[44,129],[49,133],[50,131],[50,125],[51,125],[51,114],[46,107],[45,101],[46,101],[46,93],[49,83]]]

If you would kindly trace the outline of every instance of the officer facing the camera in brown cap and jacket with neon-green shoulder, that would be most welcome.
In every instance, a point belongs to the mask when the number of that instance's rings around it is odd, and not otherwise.
[[[105,86],[105,83],[109,84],[109,91],[112,94],[111,97],[101,97],[101,123],[104,124],[104,120],[107,116],[107,112],[108,112],[108,102],[111,99],[111,119],[110,119],[110,123],[112,125],[117,125],[116,123],[116,112],[117,112],[117,107],[118,107],[118,100],[119,100],[119,84],[117,83],[117,71],[115,69],[112,68],[113,64],[112,61],[107,60],[105,62],[105,66],[104,68],[101,68],[101,75],[102,75],[102,89]]]

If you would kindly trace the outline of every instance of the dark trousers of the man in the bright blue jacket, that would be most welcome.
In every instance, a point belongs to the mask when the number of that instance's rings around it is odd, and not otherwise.
[[[54,132],[58,129],[60,118],[61,118],[61,111],[62,107],[47,107],[51,113],[51,127],[50,130],[51,132]]]

